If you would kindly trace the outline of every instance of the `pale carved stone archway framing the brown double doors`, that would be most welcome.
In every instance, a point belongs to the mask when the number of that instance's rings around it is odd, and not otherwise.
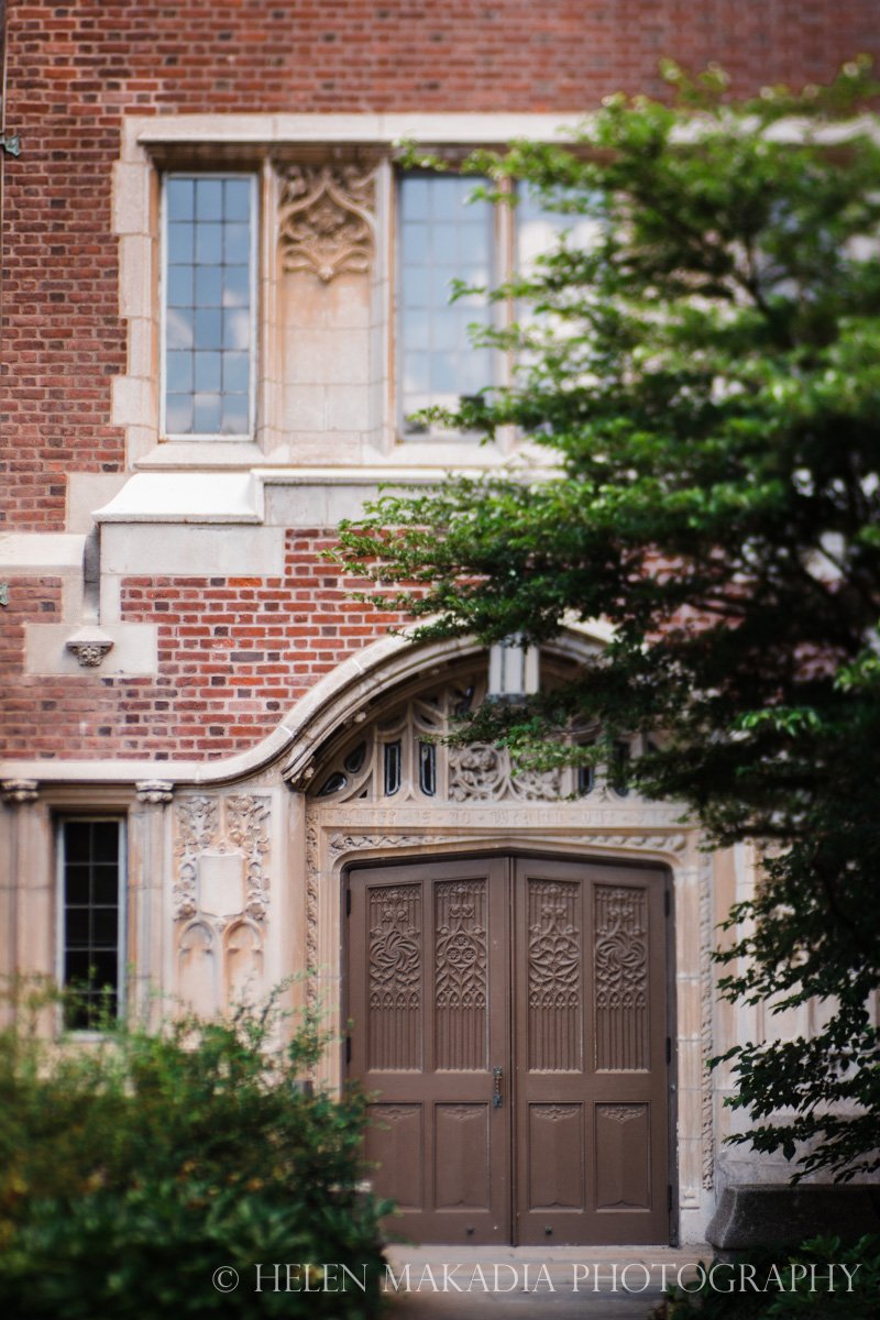
[[[484,660],[471,655],[455,657],[439,672],[422,672],[421,678],[413,673],[377,693],[313,754],[307,779],[298,785],[306,789],[305,953],[315,969],[309,994],[313,1002],[319,997],[323,1005],[338,1005],[342,1026],[343,876],[352,866],[418,866],[429,858],[451,862],[519,851],[666,867],[678,913],[669,957],[674,969],[669,1034],[673,1076],[678,1060],[685,1082],[673,1081],[669,1093],[676,1126],[670,1184],[681,1214],[701,1212],[714,1164],[712,1092],[702,1069],[712,1023],[711,859],[699,853],[695,832],[682,828],[679,808],[619,793],[600,775],[573,796],[578,785],[571,777],[561,779],[559,772],[520,777],[493,748],[438,748],[422,760],[421,744],[430,746],[430,734],[442,731],[451,704],[471,680],[479,682],[483,667]],[[391,743],[400,747],[388,752]],[[330,1061],[327,1080],[339,1081],[343,1073],[342,1057]]]

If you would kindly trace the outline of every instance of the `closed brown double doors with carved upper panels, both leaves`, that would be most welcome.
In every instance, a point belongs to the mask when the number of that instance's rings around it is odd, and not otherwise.
[[[396,1230],[668,1242],[665,874],[511,855],[348,884],[350,1074]]]

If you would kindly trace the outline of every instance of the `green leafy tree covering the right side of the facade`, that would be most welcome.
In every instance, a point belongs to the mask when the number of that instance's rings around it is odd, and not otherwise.
[[[532,309],[479,331],[513,383],[439,414],[537,457],[384,495],[338,557],[422,639],[613,626],[575,681],[458,737],[545,764],[631,739],[644,793],[760,841],[723,993],[815,997],[826,1024],[730,1051],[735,1139],[850,1179],[880,1144],[877,87],[862,59],[741,103],[720,70],[666,73],[670,103],[613,96],[574,144],[468,158],[499,203],[516,181],[588,222],[491,294]]]

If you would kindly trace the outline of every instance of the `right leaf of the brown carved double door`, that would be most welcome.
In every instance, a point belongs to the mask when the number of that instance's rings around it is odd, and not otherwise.
[[[515,863],[516,1241],[668,1242],[664,878]]]

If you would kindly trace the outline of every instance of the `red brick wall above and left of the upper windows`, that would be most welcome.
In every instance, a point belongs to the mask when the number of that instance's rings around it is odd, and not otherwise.
[[[736,86],[880,51],[877,0],[11,0],[0,527],[63,527],[65,473],[116,471],[124,370],[111,164],[120,115],[577,111],[657,90],[657,62]]]

